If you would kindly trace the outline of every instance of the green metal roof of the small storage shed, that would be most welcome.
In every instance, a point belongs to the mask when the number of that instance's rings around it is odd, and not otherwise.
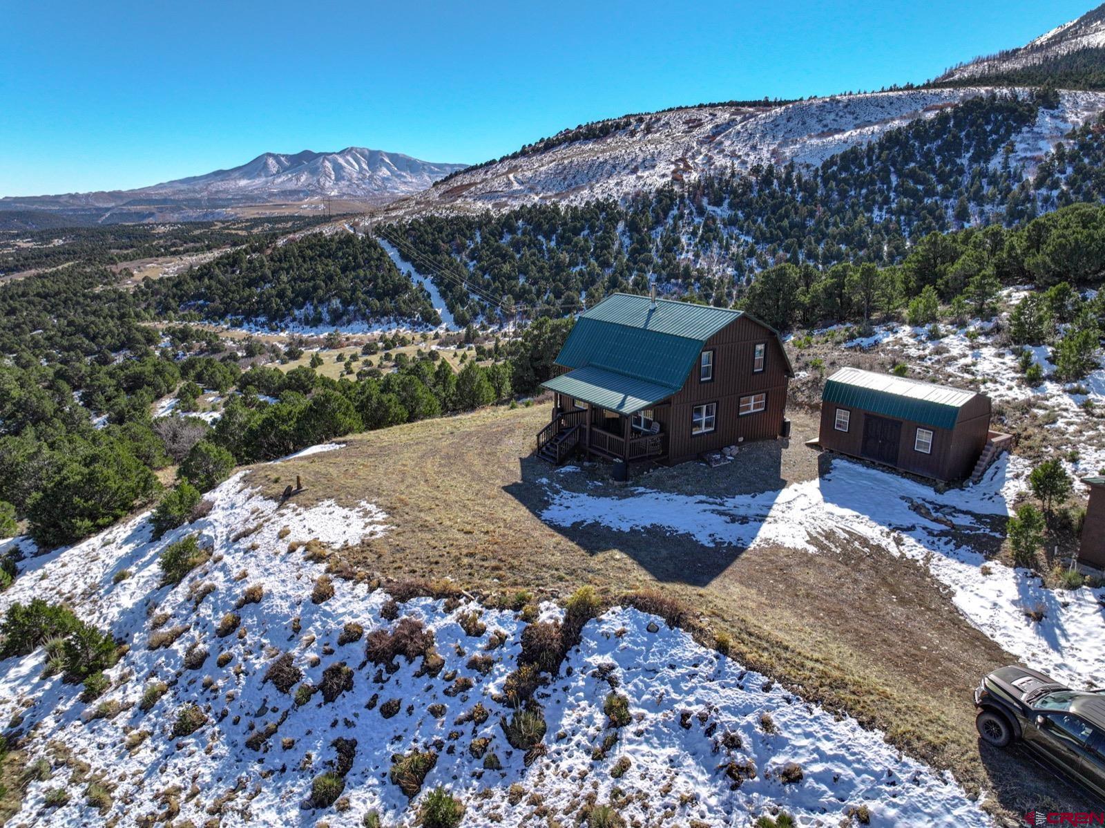
[[[959,419],[959,409],[975,396],[974,391],[918,379],[841,368],[825,380],[821,399],[898,420],[951,429]]]

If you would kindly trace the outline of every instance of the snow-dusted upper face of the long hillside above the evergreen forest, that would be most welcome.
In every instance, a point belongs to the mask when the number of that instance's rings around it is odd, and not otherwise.
[[[581,203],[693,180],[757,164],[817,166],[887,130],[932,117],[983,95],[988,87],[841,95],[775,107],[702,106],[632,118],[600,138],[471,169],[396,202],[402,212],[509,208],[540,201]],[[999,94],[1008,94],[1001,91]],[[1105,93],[1064,94],[1032,135],[1049,148],[1075,125],[1105,109]]]

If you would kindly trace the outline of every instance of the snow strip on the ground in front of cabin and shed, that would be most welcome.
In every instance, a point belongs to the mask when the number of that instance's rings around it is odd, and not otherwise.
[[[841,459],[819,480],[735,497],[643,488],[609,496],[554,484],[541,517],[561,526],[688,535],[705,547],[781,545],[815,553],[815,538],[840,543],[860,535],[888,554],[924,563],[954,590],[956,606],[972,625],[1027,663],[1072,686],[1105,685],[1099,643],[1105,588],[1044,589],[1028,570],[987,560],[962,539],[1001,536],[991,518],[1009,515],[1028,471],[1019,458],[1003,455],[980,484],[944,493]],[[1036,607],[1046,610],[1039,623],[1025,615]]]

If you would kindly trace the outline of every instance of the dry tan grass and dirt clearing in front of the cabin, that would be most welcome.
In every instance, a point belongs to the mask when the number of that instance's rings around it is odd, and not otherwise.
[[[831,461],[803,446],[815,434],[813,417],[790,416],[789,442],[761,443],[719,470],[684,464],[628,485],[737,493],[808,480]],[[551,470],[530,457],[547,417],[546,405],[495,408],[358,434],[343,450],[259,469],[251,482],[276,497],[298,474],[298,502],[380,506],[393,528],[343,554],[385,579],[451,578],[477,593],[546,597],[591,584],[611,600],[660,589],[729,633],[734,658],[883,730],[909,754],[951,768],[968,789],[992,792],[1007,818],[1046,803],[1084,807],[1085,794],[1039,774],[1024,755],[980,747],[971,689],[1015,659],[967,623],[923,566],[859,539],[827,539],[812,555],[552,527],[539,517]],[[589,474],[627,485],[600,464]]]

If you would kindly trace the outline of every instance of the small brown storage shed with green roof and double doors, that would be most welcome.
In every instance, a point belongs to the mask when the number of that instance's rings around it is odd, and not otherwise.
[[[971,475],[990,436],[985,395],[859,368],[825,380],[824,449],[951,481]]]

